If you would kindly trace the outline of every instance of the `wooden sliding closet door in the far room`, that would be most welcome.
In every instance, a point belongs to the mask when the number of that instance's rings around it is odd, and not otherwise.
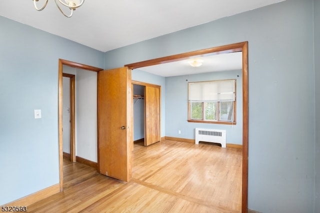
[[[160,87],[145,86],[144,145],[160,141]]]

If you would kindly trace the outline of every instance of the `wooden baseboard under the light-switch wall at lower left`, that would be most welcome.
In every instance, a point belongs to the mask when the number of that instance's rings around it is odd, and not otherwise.
[[[47,188],[44,188],[42,190],[39,190],[37,192],[34,192],[32,194],[29,194],[27,196],[21,197],[20,199],[14,200],[12,202],[9,202],[7,206],[28,206],[32,203],[35,203],[41,199],[47,198],[55,193],[60,192],[60,184],[57,183],[55,185],[49,186]]]

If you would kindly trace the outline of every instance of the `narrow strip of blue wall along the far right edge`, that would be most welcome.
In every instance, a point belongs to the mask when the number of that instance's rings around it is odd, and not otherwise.
[[[320,212],[320,0],[314,1],[315,69],[315,194],[314,212]]]

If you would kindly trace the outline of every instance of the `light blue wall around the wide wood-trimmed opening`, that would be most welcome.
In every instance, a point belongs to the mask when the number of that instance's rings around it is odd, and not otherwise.
[[[115,49],[105,53],[105,68],[240,41],[248,41],[249,54],[248,207],[313,212],[313,0],[286,0]],[[177,106],[165,99],[170,107]]]

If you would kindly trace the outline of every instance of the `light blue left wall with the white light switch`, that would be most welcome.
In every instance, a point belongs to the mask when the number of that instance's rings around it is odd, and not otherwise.
[[[97,67],[104,60],[103,52],[0,16],[0,204],[59,183],[58,58]]]

